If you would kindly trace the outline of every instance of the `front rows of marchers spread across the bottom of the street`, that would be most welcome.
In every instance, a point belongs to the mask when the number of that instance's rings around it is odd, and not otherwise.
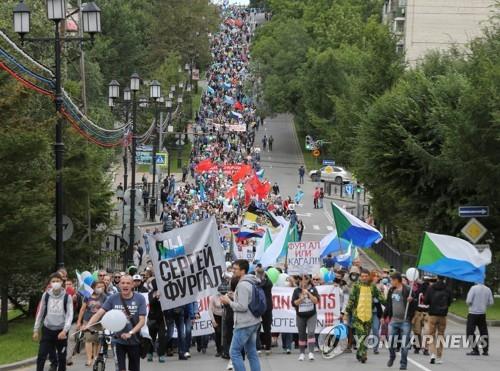
[[[163,311],[154,273],[149,268],[140,274],[135,266],[128,272],[98,271],[92,283],[93,292],[88,296],[75,290],[73,281],[62,268],[49,277],[34,325],[33,339],[40,341],[37,370],[44,369],[47,358],[51,369],[65,370],[66,365],[73,364],[79,343],[85,344],[85,364],[92,366],[102,346],[98,337],[102,328],[95,324],[99,324],[111,309],[128,312],[125,328],[112,334],[111,348],[104,345],[106,356],[114,355],[117,370],[127,369],[127,357],[129,370],[140,369],[141,357],[148,362],[157,359],[164,363],[167,357],[176,354],[179,360],[187,360],[192,348],[205,354],[212,340],[215,356],[229,360],[228,370],[244,370],[245,358],[251,370],[260,370],[259,354],[269,355],[272,348],[278,346],[279,338],[284,354],[295,349],[299,361],[304,361],[306,354],[307,359],[313,361],[321,346],[315,330],[317,288],[323,285],[340,288],[341,316],[336,320],[345,324],[348,331],[343,353],[355,350],[356,359],[365,363],[368,349],[378,354],[385,339],[389,347],[388,367],[393,365],[396,352],[400,352],[400,369],[407,369],[411,347],[415,354],[422,352],[429,356],[431,364],[442,363],[443,342],[437,337],[445,334],[452,301],[443,277],[424,276],[422,280],[410,282],[394,270],[370,272],[360,267],[359,261],[354,262],[349,272],[336,267],[326,271],[323,277],[321,273],[290,276],[286,285],[294,288],[292,305],[296,310],[297,333],[279,334],[272,332],[273,279],[270,271],[257,265],[250,273],[250,265],[251,262],[245,259],[227,263],[224,285],[209,298],[208,312],[214,333],[196,337],[191,330],[200,315],[198,302]],[[254,297],[253,285],[261,288],[262,296]],[[492,303],[491,290],[483,284],[476,284],[469,290],[467,335],[474,336],[476,326],[479,328],[480,334],[485,336],[485,342],[480,343],[483,355],[488,355],[485,312]],[[138,336],[144,326],[151,336],[145,346]],[[478,345],[473,344],[472,351],[467,354],[479,355]]]

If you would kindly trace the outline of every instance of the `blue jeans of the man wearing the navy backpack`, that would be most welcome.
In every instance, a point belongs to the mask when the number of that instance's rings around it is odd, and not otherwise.
[[[230,355],[234,371],[245,371],[245,363],[241,354],[245,350],[251,371],[260,371],[259,355],[257,354],[257,330],[259,325],[235,328],[231,341]]]

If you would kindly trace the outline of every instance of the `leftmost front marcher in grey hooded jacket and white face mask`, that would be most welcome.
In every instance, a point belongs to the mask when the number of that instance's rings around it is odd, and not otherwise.
[[[50,353],[57,351],[57,368],[66,370],[66,349],[68,346],[68,331],[73,321],[73,302],[63,288],[63,279],[59,273],[53,273],[49,278],[50,289],[40,300],[40,308],[33,327],[33,340],[42,337],[37,357],[37,371],[43,371],[45,361]]]

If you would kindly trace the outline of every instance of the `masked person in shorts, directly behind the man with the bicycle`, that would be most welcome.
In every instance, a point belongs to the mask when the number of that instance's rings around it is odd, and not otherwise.
[[[97,313],[102,304],[106,301],[106,284],[103,281],[94,281],[92,283],[92,289],[94,290],[92,295],[83,300],[83,305],[76,322],[77,330],[82,327],[82,324],[87,324],[89,319]],[[85,353],[87,354],[86,366],[92,365],[93,359],[97,357],[99,352],[98,330],[97,327],[94,327],[92,331],[85,332]]]

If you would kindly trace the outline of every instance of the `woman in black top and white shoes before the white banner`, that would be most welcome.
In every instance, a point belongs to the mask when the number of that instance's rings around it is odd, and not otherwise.
[[[316,338],[316,305],[319,294],[311,282],[311,276],[303,275],[299,287],[293,291],[292,304],[297,312],[297,328],[299,330],[299,361],[305,359],[306,345],[309,348],[309,360],[314,360],[314,346]]]

